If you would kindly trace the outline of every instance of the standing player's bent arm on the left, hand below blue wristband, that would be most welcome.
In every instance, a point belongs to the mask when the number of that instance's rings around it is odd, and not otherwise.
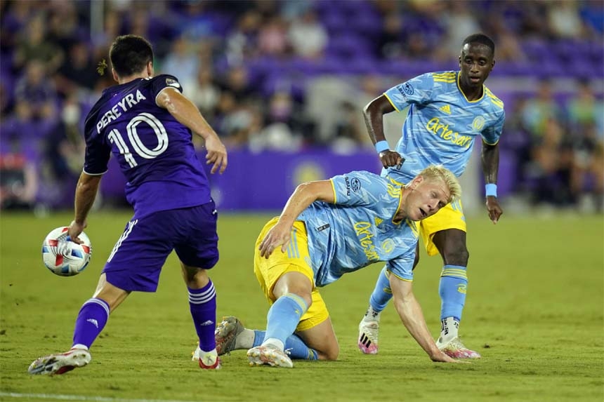
[[[383,133],[383,115],[394,111],[395,109],[386,98],[386,95],[375,98],[363,109],[367,133],[369,133],[369,138],[371,138],[374,145],[380,141],[386,141],[386,135]],[[384,168],[400,166],[405,161],[398,152],[390,149],[380,152],[379,158]]]

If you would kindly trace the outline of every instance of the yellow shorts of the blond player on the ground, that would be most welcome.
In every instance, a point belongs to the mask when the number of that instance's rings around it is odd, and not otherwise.
[[[323,297],[319,294],[319,290],[315,288],[315,274],[313,268],[310,267],[310,256],[308,255],[308,237],[304,222],[294,222],[294,227],[291,232],[291,240],[285,253],[281,252],[281,248],[273,251],[273,254],[268,257],[268,260],[260,256],[258,246],[264,239],[265,234],[269,229],[277,223],[278,217],[273,217],[266,225],[264,225],[260,236],[256,240],[256,248],[254,249],[254,274],[260,283],[262,291],[268,300],[269,304],[275,302],[273,295],[273,287],[280,277],[286,272],[300,272],[304,274],[311,283],[313,283],[313,304],[310,305],[306,313],[300,319],[297,331],[308,330],[313,328],[329,317],[329,311],[323,301]]]

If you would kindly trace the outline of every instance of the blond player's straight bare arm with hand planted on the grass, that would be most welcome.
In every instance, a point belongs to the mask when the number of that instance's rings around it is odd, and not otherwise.
[[[424,349],[432,361],[445,363],[457,363],[446,354],[442,353],[436,346],[432,335],[426,325],[424,313],[421,311],[419,302],[417,302],[412,292],[412,282],[403,281],[394,275],[390,275],[390,287],[394,297],[395,309],[398,316],[405,325],[405,328],[412,335],[414,340]]]

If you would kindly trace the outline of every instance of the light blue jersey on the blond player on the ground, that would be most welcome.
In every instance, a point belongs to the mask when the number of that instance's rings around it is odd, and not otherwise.
[[[331,178],[335,203],[315,201],[298,220],[305,222],[315,285],[378,261],[400,279],[412,280],[418,239],[416,223],[393,222],[400,208],[400,185],[357,171]]]

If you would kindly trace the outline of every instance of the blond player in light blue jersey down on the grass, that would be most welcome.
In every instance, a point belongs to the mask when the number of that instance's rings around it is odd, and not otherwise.
[[[428,331],[412,293],[412,267],[416,221],[460,193],[457,177],[442,166],[422,170],[407,186],[369,172],[299,185],[256,241],[254,272],[271,304],[266,331],[226,317],[216,328],[218,354],[249,349],[251,365],[279,367],[292,367],[291,358],[337,359],[339,344],[317,288],[386,261],[402,323],[430,359],[454,362]]]

